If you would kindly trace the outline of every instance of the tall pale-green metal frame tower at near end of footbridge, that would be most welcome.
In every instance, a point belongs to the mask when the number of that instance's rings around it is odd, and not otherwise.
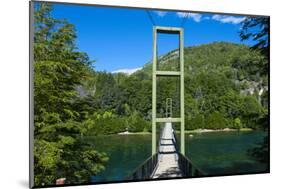
[[[180,69],[179,71],[160,71],[157,70],[157,34],[172,34],[179,35],[179,57]],[[184,43],[183,43],[183,28],[176,27],[153,27],[153,66],[152,66],[152,155],[156,154],[156,123],[163,122],[180,122],[180,152],[185,155],[185,139],[184,139]],[[180,78],[180,117],[173,118],[172,114],[166,118],[156,117],[156,87],[157,77],[179,77]]]

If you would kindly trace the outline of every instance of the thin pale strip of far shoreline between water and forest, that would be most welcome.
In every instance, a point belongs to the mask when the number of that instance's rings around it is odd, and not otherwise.
[[[208,133],[208,132],[230,132],[230,131],[238,131],[238,129],[230,129],[230,128],[224,128],[224,129],[194,129],[194,130],[187,130],[184,133],[189,134],[189,133]],[[240,132],[245,132],[245,131],[253,131],[251,128],[242,128],[239,130]],[[176,133],[180,133],[180,131],[176,131]],[[146,134],[151,134],[151,132],[144,131],[144,132],[121,132],[118,133],[118,135],[146,135]]]

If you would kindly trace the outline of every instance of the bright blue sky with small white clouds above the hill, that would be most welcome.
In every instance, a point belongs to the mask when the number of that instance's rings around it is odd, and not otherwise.
[[[150,11],[156,25],[179,27],[186,13]],[[86,52],[98,71],[132,72],[152,58],[152,23],[145,10],[54,4],[52,15],[75,25],[79,51]],[[184,45],[214,41],[242,43],[242,16],[189,13]],[[251,41],[243,44],[251,45]],[[159,54],[177,47],[176,37],[159,36]]]

